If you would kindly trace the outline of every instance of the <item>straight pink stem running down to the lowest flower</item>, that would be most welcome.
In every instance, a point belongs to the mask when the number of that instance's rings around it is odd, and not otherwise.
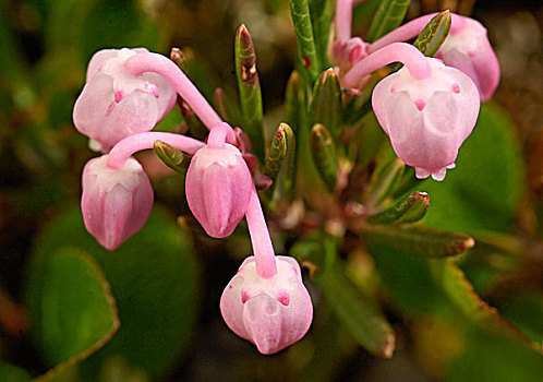
[[[277,274],[274,246],[272,244],[272,238],[269,237],[254,184],[248,211],[245,212],[245,218],[248,220],[249,234],[251,235],[251,242],[253,243],[256,273],[263,278],[274,277]]]

